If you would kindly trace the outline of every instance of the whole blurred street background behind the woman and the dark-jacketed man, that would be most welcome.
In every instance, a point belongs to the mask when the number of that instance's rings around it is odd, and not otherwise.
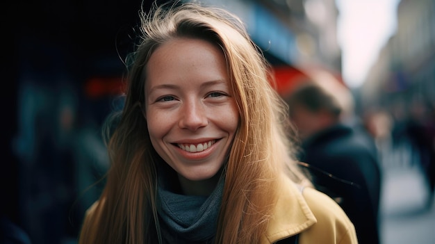
[[[349,89],[379,149],[382,244],[434,243],[435,1],[204,2],[243,19],[280,92],[300,71]],[[104,186],[101,125],[122,107],[123,60],[151,1],[1,4],[0,234],[73,244]]]

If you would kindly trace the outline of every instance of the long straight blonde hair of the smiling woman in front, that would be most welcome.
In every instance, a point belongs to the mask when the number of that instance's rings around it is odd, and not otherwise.
[[[156,212],[156,158],[142,116],[145,65],[168,40],[202,38],[227,60],[240,124],[224,168],[224,193],[215,243],[258,243],[279,194],[279,178],[306,181],[292,161],[286,106],[270,86],[269,67],[243,22],[219,8],[182,3],[142,12],[141,41],[132,54],[125,104],[108,153],[106,187],[83,225],[80,243],[161,243]]]

